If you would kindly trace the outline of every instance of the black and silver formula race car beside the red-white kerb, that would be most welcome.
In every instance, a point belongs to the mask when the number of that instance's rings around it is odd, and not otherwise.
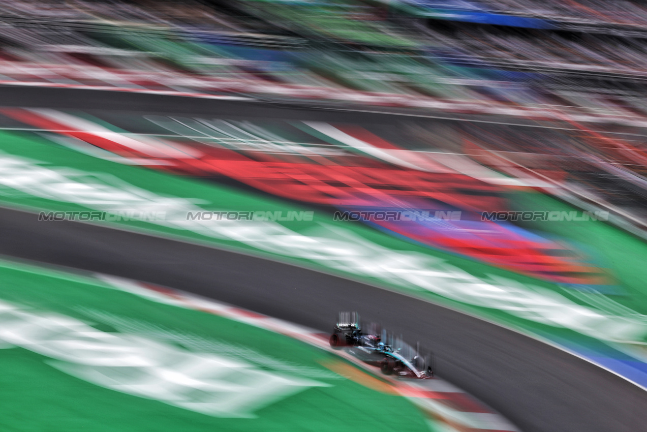
[[[366,327],[368,332],[362,332],[362,324],[356,312],[340,312],[329,339],[331,347],[344,349],[362,362],[380,367],[386,375],[422,379],[433,377],[431,354],[426,358],[421,356],[418,349],[400,338],[389,336],[375,323]]]

